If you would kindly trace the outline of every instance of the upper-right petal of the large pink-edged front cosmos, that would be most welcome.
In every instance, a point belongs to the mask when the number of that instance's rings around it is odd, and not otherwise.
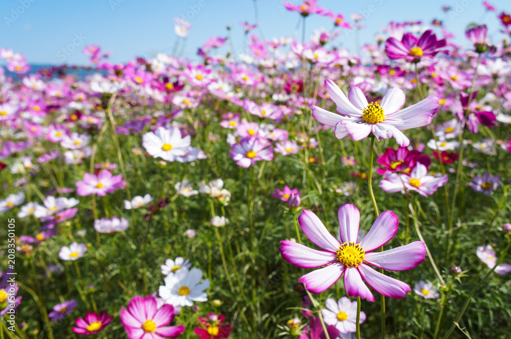
[[[366,236],[360,241],[360,246],[364,251],[370,252],[385,245],[398,232],[399,220],[396,214],[391,211],[385,211],[377,218],[373,227]]]

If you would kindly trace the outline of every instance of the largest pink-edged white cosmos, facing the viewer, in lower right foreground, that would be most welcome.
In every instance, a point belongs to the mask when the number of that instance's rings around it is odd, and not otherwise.
[[[376,219],[367,235],[358,241],[360,212],[352,204],[339,208],[339,235],[341,242],[330,234],[313,212],[304,210],[298,217],[304,234],[323,251],[313,250],[307,246],[281,241],[279,248],[282,257],[301,268],[317,268],[301,277],[312,293],[321,293],[332,286],[344,275],[344,288],[349,297],[360,297],[375,301],[364,281],[376,292],[396,299],[405,297],[410,286],[397,279],[385,276],[370,265],[389,271],[404,271],[416,267],[424,261],[426,245],[414,241],[405,246],[384,252],[373,252],[385,245],[398,232],[399,220],[396,214],[385,211]]]

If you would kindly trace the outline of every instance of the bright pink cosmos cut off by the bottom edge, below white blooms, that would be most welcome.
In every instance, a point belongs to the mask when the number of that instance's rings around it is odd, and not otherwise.
[[[165,304],[157,308],[153,296],[131,298],[120,317],[129,339],[175,338],[184,332],[183,325],[167,326],[174,320],[174,306]]]

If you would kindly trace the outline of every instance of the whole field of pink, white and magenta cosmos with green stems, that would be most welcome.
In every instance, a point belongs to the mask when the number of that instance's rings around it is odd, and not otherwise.
[[[349,52],[360,14],[283,6],[301,39],[195,60],[0,48],[1,339],[509,337],[508,9]]]

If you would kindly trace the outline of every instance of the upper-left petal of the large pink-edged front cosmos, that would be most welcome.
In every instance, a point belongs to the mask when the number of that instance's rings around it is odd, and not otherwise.
[[[339,241],[327,231],[319,218],[308,209],[298,217],[301,230],[312,241],[314,245],[319,246],[323,250],[335,252],[339,249]]]

